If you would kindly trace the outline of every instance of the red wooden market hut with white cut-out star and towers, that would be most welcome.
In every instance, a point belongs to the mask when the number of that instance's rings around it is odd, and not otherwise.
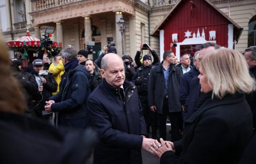
[[[160,58],[170,50],[178,60],[182,54],[192,56],[200,44],[214,42],[235,49],[242,28],[208,0],[180,0],[151,33],[160,39]]]

